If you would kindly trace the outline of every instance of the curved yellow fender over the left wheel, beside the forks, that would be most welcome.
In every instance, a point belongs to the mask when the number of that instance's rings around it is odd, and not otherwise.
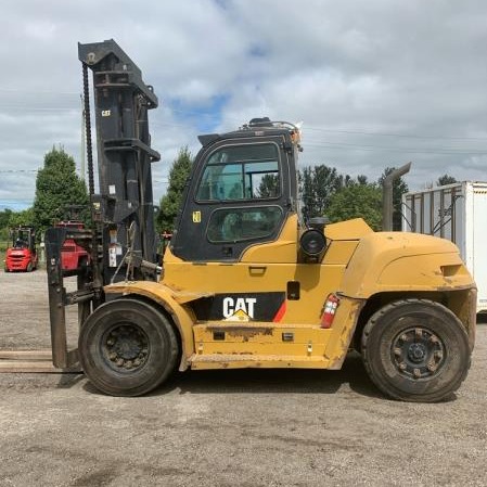
[[[194,354],[194,319],[182,305],[189,300],[207,296],[207,294],[196,296],[194,293],[178,293],[167,285],[153,281],[117,282],[105,286],[104,291],[107,294],[121,294],[123,296],[143,296],[161,305],[172,318],[181,336],[182,354],[179,370],[182,372],[188,369],[188,359]]]

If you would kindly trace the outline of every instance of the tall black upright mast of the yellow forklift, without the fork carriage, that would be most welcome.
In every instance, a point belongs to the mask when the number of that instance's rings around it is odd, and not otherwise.
[[[85,78],[89,68],[93,79],[100,194],[93,194],[93,188],[90,193],[93,219],[101,232],[102,282],[108,284],[125,278],[127,249],[139,261],[156,260],[151,163],[161,156],[151,149],[148,111],[158,101],[114,40],[79,43],[78,56]],[[136,279],[155,279],[155,273],[151,275],[137,265],[131,271]]]

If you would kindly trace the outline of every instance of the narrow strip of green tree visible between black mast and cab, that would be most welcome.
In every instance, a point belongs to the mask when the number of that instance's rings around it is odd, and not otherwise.
[[[158,232],[172,233],[175,220],[181,206],[182,193],[192,166],[193,156],[188,146],[180,149],[178,157],[174,161],[169,171],[167,192],[161,198],[159,212],[156,218]]]

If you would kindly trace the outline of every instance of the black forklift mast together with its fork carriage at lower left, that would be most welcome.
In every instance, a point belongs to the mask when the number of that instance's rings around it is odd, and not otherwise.
[[[66,312],[78,306],[78,323],[105,302],[103,286],[125,279],[157,280],[156,233],[151,164],[159,161],[151,149],[148,112],[158,104],[141,71],[113,40],[78,43],[82,65],[87,137],[88,185],[92,228],[53,227],[46,232],[48,290],[53,363],[68,368],[78,360],[68,350]],[[97,123],[99,193],[94,189],[91,104]],[[62,268],[62,246],[73,240],[91,256],[88,266]],[[77,290],[67,292],[64,278],[77,275]]]

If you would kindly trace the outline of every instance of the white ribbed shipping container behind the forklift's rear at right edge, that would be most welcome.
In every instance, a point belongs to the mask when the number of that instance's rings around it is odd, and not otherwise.
[[[402,230],[456,243],[487,311],[487,182],[457,182],[402,195]]]

